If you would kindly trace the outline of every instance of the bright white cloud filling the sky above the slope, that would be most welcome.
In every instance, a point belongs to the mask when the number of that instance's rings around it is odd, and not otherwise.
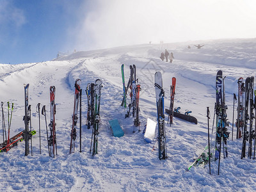
[[[93,6],[84,4],[90,10],[75,31],[77,47],[99,49],[149,41],[244,38],[256,34],[256,18],[249,14],[255,11],[250,0],[94,2]]]

